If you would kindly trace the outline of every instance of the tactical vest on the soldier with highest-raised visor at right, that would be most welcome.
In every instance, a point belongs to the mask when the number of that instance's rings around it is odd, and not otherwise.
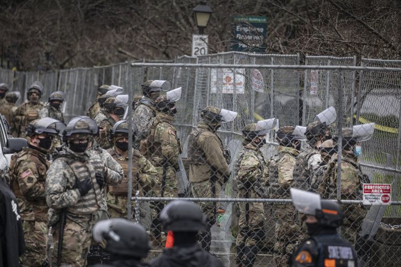
[[[293,172],[294,187],[307,190],[311,185],[311,170],[308,168],[308,160],[319,151],[312,147],[307,147],[298,156]]]

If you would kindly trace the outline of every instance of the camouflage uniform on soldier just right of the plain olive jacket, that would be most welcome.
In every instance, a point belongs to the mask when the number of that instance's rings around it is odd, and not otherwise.
[[[261,198],[261,187],[265,186],[263,177],[265,160],[258,147],[246,144],[244,151],[240,153],[235,163],[235,180],[238,186],[239,198]],[[257,193],[258,192],[258,193]],[[240,231],[236,237],[238,262],[245,266],[249,265],[251,259],[249,254],[257,254],[257,244],[265,236],[264,232],[264,209],[263,203],[240,203]],[[249,256],[252,258],[251,256]]]

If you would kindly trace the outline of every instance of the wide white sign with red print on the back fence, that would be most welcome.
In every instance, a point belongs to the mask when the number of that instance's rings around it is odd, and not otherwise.
[[[231,69],[211,69],[210,92],[234,93],[234,73]],[[235,93],[245,92],[245,69],[235,69]]]

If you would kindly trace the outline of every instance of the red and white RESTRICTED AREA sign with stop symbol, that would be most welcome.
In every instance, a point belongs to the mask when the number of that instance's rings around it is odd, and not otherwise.
[[[363,184],[363,204],[390,205],[391,184]]]

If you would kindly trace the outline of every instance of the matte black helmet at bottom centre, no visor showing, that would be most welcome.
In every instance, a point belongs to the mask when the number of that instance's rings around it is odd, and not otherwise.
[[[194,203],[174,200],[160,213],[161,225],[167,231],[196,232],[206,230],[206,216]]]

